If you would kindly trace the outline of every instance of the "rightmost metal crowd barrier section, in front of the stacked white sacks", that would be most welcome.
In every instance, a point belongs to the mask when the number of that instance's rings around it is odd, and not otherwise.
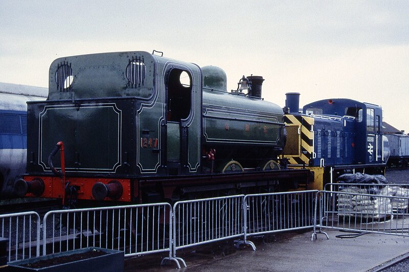
[[[349,188],[351,189],[351,188]],[[316,193],[313,237],[322,229],[409,236],[409,197],[340,191]],[[395,208],[394,208],[395,206]]]

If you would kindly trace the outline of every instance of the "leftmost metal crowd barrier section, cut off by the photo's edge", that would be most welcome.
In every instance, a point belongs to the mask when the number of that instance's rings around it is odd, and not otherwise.
[[[40,256],[40,216],[36,212],[0,215],[1,234],[8,238],[8,262]]]

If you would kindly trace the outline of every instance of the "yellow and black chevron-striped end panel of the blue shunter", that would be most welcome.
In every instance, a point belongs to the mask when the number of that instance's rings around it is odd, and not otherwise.
[[[284,115],[284,122],[287,128],[295,128],[297,130],[287,129],[287,143],[290,145],[297,144],[298,152],[291,152],[284,156],[288,158],[290,164],[308,165],[314,152],[314,118],[303,115]]]

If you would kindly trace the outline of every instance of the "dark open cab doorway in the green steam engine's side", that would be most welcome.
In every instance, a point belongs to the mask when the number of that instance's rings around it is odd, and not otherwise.
[[[178,122],[188,118],[191,107],[192,77],[181,69],[169,72],[168,82],[168,121]]]

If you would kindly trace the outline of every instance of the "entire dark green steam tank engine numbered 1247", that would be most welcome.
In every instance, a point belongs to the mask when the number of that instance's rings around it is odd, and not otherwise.
[[[226,177],[276,170],[285,144],[282,109],[261,98],[261,77],[249,79],[248,93],[228,92],[218,67],[142,51],[59,58],[48,100],[28,103],[28,174],[14,188],[63,202],[149,203],[269,186],[271,174]]]

